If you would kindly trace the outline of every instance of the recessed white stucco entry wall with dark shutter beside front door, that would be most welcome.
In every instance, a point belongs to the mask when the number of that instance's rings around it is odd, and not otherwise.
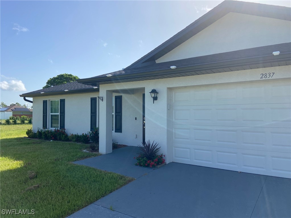
[[[113,97],[122,95],[122,133],[116,133],[113,129],[113,142],[130,146],[142,144],[143,92],[136,90],[134,94],[113,93]]]

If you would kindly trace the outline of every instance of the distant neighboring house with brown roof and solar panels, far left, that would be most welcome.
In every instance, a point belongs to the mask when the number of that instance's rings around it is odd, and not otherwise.
[[[1,119],[9,119],[10,116],[27,116],[32,117],[32,109],[24,108],[22,106],[10,105],[5,108],[0,108]]]

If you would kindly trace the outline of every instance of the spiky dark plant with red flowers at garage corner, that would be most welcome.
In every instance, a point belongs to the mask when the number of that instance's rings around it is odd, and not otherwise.
[[[150,143],[150,140],[148,142],[142,143],[139,146],[139,149],[141,150],[140,153],[138,153],[139,156],[134,157],[136,159],[136,166],[142,166],[142,167],[156,167],[157,165],[163,164],[165,162],[165,155],[157,153],[159,152],[160,148],[157,148],[158,144],[155,143],[155,141]]]

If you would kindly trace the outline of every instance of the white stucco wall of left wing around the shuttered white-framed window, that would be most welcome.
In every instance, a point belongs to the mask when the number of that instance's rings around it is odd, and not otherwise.
[[[98,97],[99,93],[85,93],[85,94],[66,94],[45,97],[33,98],[33,124],[34,132],[38,128],[42,128],[42,101],[65,99],[65,129],[68,135],[87,133],[90,131],[90,98]],[[97,113],[98,113],[98,98],[97,98]],[[48,110],[49,117],[49,110]],[[49,122],[48,122],[49,123]],[[98,125],[98,117],[97,117]]]

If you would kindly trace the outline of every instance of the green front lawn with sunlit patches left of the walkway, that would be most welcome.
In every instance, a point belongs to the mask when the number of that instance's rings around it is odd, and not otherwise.
[[[1,211],[27,209],[35,210],[33,217],[66,217],[133,180],[72,164],[97,154],[82,152],[86,144],[23,138],[30,127],[1,125]],[[19,217],[1,214],[8,216]]]

